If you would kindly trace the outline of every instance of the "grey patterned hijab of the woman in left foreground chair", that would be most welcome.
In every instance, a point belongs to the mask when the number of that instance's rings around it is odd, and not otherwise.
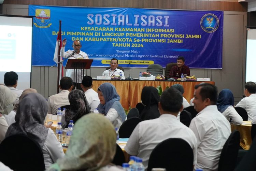
[[[25,134],[43,148],[48,128],[44,126],[44,118],[48,107],[45,98],[38,93],[29,93],[19,103],[15,115],[15,123],[10,125],[5,137]]]

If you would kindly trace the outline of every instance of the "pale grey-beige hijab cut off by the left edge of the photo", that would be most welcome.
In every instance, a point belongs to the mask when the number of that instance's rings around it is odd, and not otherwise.
[[[8,115],[13,110],[13,102],[17,98],[10,88],[0,84],[0,113]]]

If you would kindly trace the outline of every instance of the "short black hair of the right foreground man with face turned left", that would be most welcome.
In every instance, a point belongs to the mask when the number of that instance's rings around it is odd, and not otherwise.
[[[202,97],[202,101],[209,98],[212,105],[215,105],[217,103],[218,99],[218,89],[215,85],[204,83],[204,84],[198,84],[195,86],[195,89],[198,89],[201,87],[200,90],[200,96]]]

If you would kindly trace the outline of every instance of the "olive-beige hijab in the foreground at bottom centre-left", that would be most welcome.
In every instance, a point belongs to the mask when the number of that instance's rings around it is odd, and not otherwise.
[[[101,114],[90,113],[77,120],[66,156],[50,171],[93,171],[111,163],[116,152],[116,133]]]

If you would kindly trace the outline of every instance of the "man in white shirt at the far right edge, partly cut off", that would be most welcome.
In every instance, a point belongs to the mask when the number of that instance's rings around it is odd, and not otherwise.
[[[248,120],[253,120],[256,115],[256,84],[254,82],[247,82],[244,86],[243,98],[236,107],[244,108],[248,114]]]

